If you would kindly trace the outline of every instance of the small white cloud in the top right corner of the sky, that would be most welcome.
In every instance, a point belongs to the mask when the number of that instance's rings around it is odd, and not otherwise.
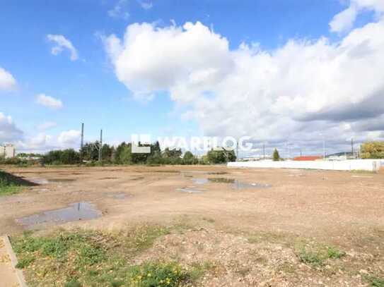
[[[330,22],[332,32],[345,32],[350,30],[356,20],[357,15],[364,10],[376,11],[380,14],[384,12],[383,0],[351,0],[349,7],[334,16]]]

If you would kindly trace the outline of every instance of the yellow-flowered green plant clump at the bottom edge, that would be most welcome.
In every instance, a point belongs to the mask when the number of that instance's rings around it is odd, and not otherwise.
[[[129,283],[132,286],[176,287],[186,283],[189,274],[179,264],[171,263],[145,263],[131,267],[129,270]]]

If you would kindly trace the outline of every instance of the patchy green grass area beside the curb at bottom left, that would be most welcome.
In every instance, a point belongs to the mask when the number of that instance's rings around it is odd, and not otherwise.
[[[153,246],[174,227],[140,226],[126,233],[55,231],[45,236],[25,233],[11,238],[19,267],[30,286],[185,286],[213,264],[182,267],[178,262],[146,262],[135,256]],[[149,275],[150,274],[150,275]]]

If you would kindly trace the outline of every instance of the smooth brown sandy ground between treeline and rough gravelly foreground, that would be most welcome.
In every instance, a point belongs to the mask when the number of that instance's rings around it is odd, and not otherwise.
[[[215,231],[211,232],[288,233],[315,238],[319,242],[341,246],[344,250],[374,253],[383,259],[383,171],[351,173],[228,169],[226,166],[5,170],[26,180],[47,180],[48,183],[26,188],[18,195],[0,197],[0,233],[21,233],[25,227],[16,224],[15,220],[22,216],[67,207],[74,202],[91,202],[103,216],[64,226],[114,230],[142,222],[169,224],[182,217],[209,219],[215,226]],[[272,186],[236,190],[231,183],[199,185],[192,178],[233,178],[243,183]],[[202,192],[177,190],[191,187]],[[284,256],[284,250],[278,248],[275,251],[275,257],[279,254]],[[268,278],[267,274],[265,276]],[[252,282],[244,286],[252,286]]]

